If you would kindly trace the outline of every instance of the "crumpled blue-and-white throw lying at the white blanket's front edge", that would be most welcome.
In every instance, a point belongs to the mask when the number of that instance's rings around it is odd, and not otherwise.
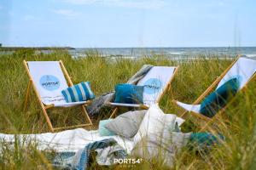
[[[77,152],[61,152],[55,156],[54,167],[66,169],[86,170],[90,161],[90,153],[96,151],[96,161],[100,165],[112,165],[113,159],[124,159],[126,151],[115,139],[103,139],[87,144],[83,150]]]

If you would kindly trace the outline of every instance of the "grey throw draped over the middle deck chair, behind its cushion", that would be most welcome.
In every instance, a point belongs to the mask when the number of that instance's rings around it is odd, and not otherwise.
[[[137,84],[138,81],[140,81],[145,75],[147,75],[148,71],[153,67],[153,65],[143,65],[143,68],[141,68],[137,73],[132,76],[128,82],[129,84]],[[91,105],[87,106],[87,111],[90,116],[97,116],[103,107],[106,106],[106,104],[110,101],[113,101],[114,92],[108,92],[106,94],[102,94],[102,96],[94,99],[91,103]]]

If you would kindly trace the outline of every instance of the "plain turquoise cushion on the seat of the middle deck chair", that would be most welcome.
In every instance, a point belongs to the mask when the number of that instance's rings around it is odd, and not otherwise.
[[[118,84],[115,86],[114,103],[143,104],[143,86]]]

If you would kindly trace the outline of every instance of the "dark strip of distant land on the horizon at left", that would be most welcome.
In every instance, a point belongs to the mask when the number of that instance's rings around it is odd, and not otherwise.
[[[57,49],[62,49],[62,50],[71,50],[71,49],[75,49],[75,48],[71,48],[71,47],[37,47],[37,48],[0,47],[0,51],[15,51],[15,50],[20,50],[20,49],[32,49],[32,50],[57,50]]]

